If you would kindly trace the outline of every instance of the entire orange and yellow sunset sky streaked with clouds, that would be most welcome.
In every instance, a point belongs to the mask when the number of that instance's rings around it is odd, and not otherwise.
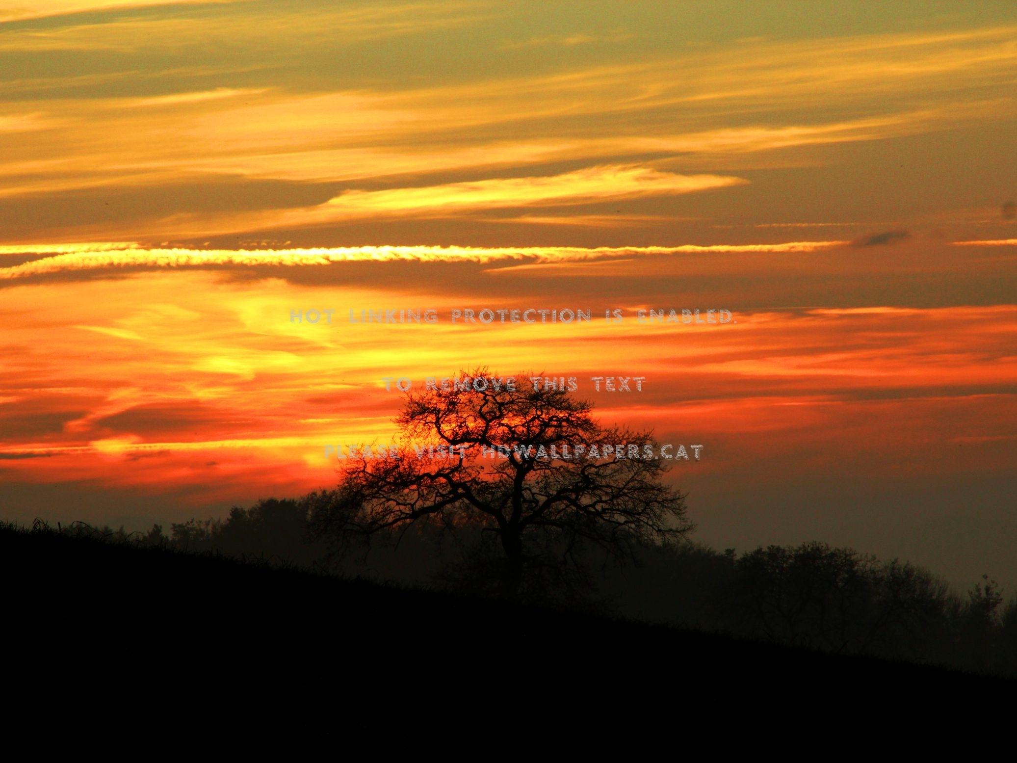
[[[331,486],[483,365],[703,444],[698,540],[1012,593],[1015,79],[1003,0],[0,0],[0,517]]]

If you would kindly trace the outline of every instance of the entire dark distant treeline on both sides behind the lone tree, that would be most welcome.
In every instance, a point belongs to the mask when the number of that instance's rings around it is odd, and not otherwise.
[[[234,508],[223,520],[174,524],[169,533],[158,525],[148,533],[80,523],[54,529],[348,578],[486,590],[482,534],[423,526],[337,549],[315,535],[312,519],[305,502],[272,498]],[[1017,597],[1005,602],[988,576],[959,596],[921,568],[818,542],[741,554],[687,541],[644,544],[624,565],[592,550],[579,555],[579,572],[561,584],[558,603],[828,652],[1017,676]]]

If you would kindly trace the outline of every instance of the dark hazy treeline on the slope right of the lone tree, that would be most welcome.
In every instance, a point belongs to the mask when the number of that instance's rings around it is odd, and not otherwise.
[[[958,596],[919,567],[812,542],[646,548],[604,584],[629,617],[1017,676],[1017,597],[1004,603],[988,576]]]

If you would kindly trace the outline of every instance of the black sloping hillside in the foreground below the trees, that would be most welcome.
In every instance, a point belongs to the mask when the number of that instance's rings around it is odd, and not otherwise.
[[[0,575],[9,727],[248,741],[387,728],[375,739],[394,745],[410,726],[490,724],[518,742],[564,724],[591,742],[633,722],[687,732],[691,713],[743,730],[1015,686],[52,532],[0,529]]]

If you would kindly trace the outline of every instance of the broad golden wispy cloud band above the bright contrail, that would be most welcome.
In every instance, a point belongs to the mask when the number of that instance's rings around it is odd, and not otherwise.
[[[111,65],[119,67],[84,66],[63,77],[58,94],[35,99],[25,94],[41,74],[48,73],[47,87],[61,77],[28,66],[24,81],[15,73],[6,83],[5,93],[16,100],[0,101],[0,132],[18,138],[0,156],[0,201],[9,201],[15,221],[8,240],[40,230],[18,223],[32,220],[25,211],[45,219],[42,235],[56,240],[254,235],[397,215],[458,217],[479,227],[496,224],[481,219],[485,211],[719,188],[744,182],[762,164],[841,162],[852,145],[1015,113],[1006,86],[1017,64],[1013,26],[742,40],[695,51],[622,43],[633,46],[631,55],[596,64],[570,52],[584,48],[587,38],[614,33],[549,32],[517,42],[562,50],[540,58],[535,49],[534,61],[506,75],[504,67],[489,64],[513,27],[490,24],[483,27],[487,38],[478,38],[490,40],[490,49],[470,53],[485,62],[475,69],[445,75],[432,66],[418,74],[403,61],[377,70],[375,61],[365,60],[326,76],[318,71],[326,60],[320,56],[336,50],[314,47],[321,30],[337,45],[369,44],[482,24],[512,11],[480,2],[315,5],[300,13],[288,4],[242,6],[108,19],[88,14],[5,30],[0,48],[24,51],[25,60],[60,45],[116,46]],[[432,50],[430,43],[433,38],[420,49]],[[195,46],[224,46],[229,60],[202,59],[184,71]],[[323,68],[331,72],[330,61]],[[866,165],[866,171],[873,170]],[[210,201],[198,188],[210,178],[251,188],[250,200],[232,208]],[[292,185],[270,189],[273,182]],[[178,191],[182,186],[195,192]],[[162,203],[124,204],[132,209],[106,215],[107,199],[99,206],[95,197],[125,187]],[[789,208],[798,200],[793,195]],[[53,199],[66,199],[59,216],[47,215]],[[788,212],[777,204],[763,214]],[[591,228],[612,229],[639,225],[639,216],[648,225],[666,225],[650,218],[668,213],[672,220],[705,217],[708,206],[675,213],[658,203],[633,204],[624,210],[627,219],[602,210],[577,215],[588,216]],[[565,216],[517,215],[516,225],[549,232],[566,225],[556,217]],[[961,235],[967,234],[955,237]]]

